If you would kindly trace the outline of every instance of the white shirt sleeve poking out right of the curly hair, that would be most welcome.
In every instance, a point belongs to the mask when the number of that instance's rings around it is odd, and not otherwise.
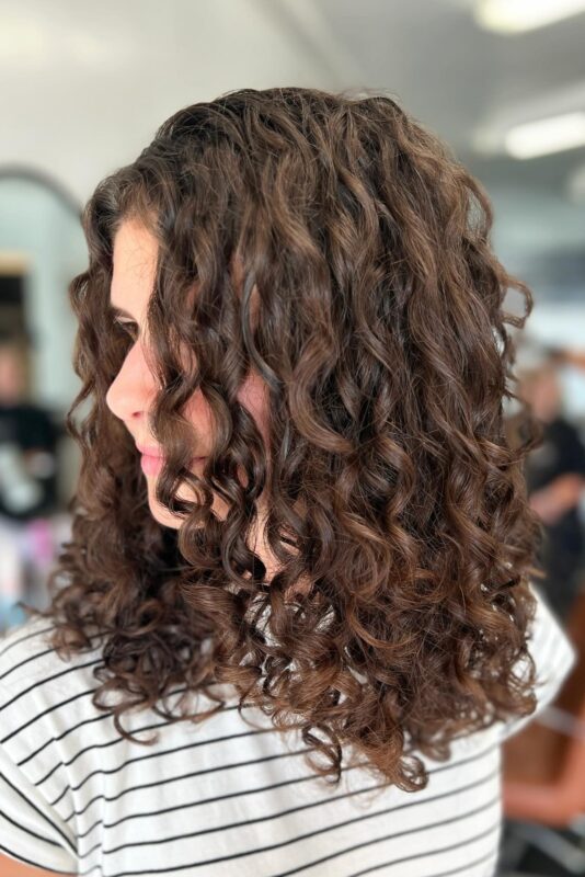
[[[521,716],[505,722],[502,728],[502,740],[520,731],[554,701],[577,660],[575,647],[547,603],[544,595],[534,583],[530,586],[537,599],[537,608],[528,641],[528,650],[536,664],[537,707],[529,716]],[[526,662],[523,662],[523,668],[525,667]],[[519,674],[517,673],[517,675]]]

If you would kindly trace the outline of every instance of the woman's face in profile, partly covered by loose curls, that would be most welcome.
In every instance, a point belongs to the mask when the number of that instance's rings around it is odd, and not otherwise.
[[[110,386],[106,403],[115,417],[119,418],[135,442],[142,447],[158,448],[156,440],[149,433],[149,411],[158,390],[158,384],[148,360],[152,361],[153,352],[149,352],[146,314],[150,291],[154,283],[158,243],[154,236],[136,220],[125,220],[115,238],[113,254],[113,276],[110,291],[110,303],[118,310],[121,322],[127,323],[133,339],[126,358]],[[239,401],[254,418],[261,434],[267,443],[265,385],[257,374],[246,378]],[[196,426],[202,436],[202,446],[196,448],[197,457],[207,456],[211,445],[211,418],[208,405],[200,390],[197,390],[185,408],[185,415]],[[160,452],[160,448],[158,448]],[[152,463],[152,462],[150,462]],[[154,466],[144,464],[142,471],[147,481],[149,505],[152,515],[169,527],[181,526],[182,519],[171,514],[161,505],[154,496],[157,472]],[[202,460],[193,460],[192,470],[200,470]],[[192,491],[183,485],[177,492],[179,499],[193,499]],[[214,511],[218,517],[225,517],[226,504],[220,498],[214,500]]]

